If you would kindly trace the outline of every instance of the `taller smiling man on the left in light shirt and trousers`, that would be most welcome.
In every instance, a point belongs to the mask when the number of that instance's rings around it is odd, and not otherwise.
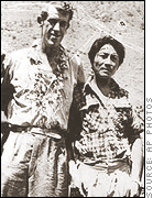
[[[41,41],[13,52],[3,65],[2,84],[15,92],[8,105],[2,197],[68,196],[65,138],[74,88],[85,80],[78,57],[61,45],[72,18],[69,4],[47,4],[37,18]]]

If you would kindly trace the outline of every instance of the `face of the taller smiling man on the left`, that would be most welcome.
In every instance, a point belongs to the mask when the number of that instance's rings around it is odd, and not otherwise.
[[[48,16],[44,22],[43,41],[45,46],[59,46],[68,24],[69,14],[65,14],[62,11],[57,11],[56,8],[51,7],[48,10]]]

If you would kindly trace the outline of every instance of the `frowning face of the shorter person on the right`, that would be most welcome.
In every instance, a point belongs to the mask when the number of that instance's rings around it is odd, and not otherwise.
[[[119,55],[112,45],[106,44],[96,54],[92,69],[100,78],[110,78],[119,68]]]

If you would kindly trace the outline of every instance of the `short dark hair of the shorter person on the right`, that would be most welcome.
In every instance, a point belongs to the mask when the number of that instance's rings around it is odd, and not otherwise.
[[[117,54],[119,55],[119,66],[120,66],[123,63],[124,55],[125,55],[124,46],[110,35],[97,38],[91,45],[90,51],[88,53],[88,57],[90,59],[91,65],[94,65],[94,59],[95,59],[96,54],[106,44],[112,45],[113,48],[117,51]]]

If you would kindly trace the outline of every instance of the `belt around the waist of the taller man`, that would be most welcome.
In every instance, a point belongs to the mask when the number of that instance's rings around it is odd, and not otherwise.
[[[66,130],[61,129],[42,129],[36,127],[22,127],[22,125],[10,125],[12,132],[26,132],[32,134],[41,134],[48,138],[61,140],[66,136]]]

